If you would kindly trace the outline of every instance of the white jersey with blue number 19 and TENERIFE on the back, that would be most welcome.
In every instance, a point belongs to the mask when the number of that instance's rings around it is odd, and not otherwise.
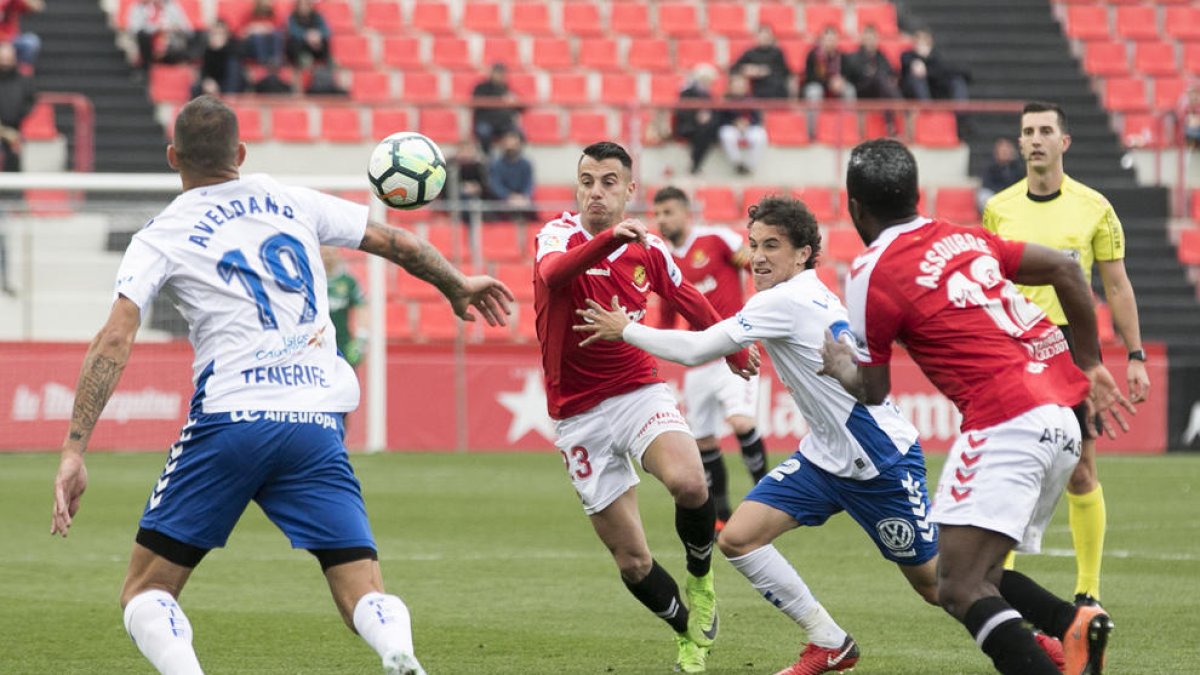
[[[366,207],[268,175],[196,187],[133,237],[116,294],[143,316],[173,295],[193,410],[348,412],[359,383],[337,356],[320,246],[356,247],[366,225]]]

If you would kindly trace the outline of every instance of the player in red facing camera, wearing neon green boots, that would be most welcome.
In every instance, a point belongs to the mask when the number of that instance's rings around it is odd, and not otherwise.
[[[534,306],[556,446],[583,510],[608,546],[622,580],[676,631],[684,673],[703,673],[716,637],[713,526],[716,512],[704,484],[700,450],[654,357],[624,342],[581,347],[575,310],[587,300],[616,300],[635,321],[650,292],[679,307],[697,329],[721,319],[683,279],[661,239],[625,217],[637,184],[624,148],[601,142],[583,149],[577,166],[580,214],[565,213],[538,234]],[[745,352],[730,363],[756,372]],[[637,512],[634,464],[658,478],[676,502],[676,531],[688,558],[688,604],[679,586],[650,555]]]

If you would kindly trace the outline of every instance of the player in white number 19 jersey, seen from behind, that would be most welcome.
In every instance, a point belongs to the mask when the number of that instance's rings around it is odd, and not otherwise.
[[[334,602],[388,673],[424,674],[408,608],[384,592],[343,416],[359,402],[335,348],[320,245],[388,258],[438,287],[455,313],[503,324],[511,293],[463,276],[428,243],[370,222],[361,204],[239,175],[246,147],[220,100],[186,104],[167,150],[182,193],[134,235],[108,322],[84,358],[54,483],[53,533],[66,536],[86,488],[83,453],[116,387],[143,312],[170,289],[196,351],[187,423],[156,482],[121,591],[125,628],[160,673],[200,673],[176,599],[254,501],[311,551]]]

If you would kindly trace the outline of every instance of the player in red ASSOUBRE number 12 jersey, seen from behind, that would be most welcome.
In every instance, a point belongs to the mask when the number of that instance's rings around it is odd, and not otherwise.
[[[882,401],[890,389],[892,344],[899,341],[962,413],[962,435],[934,501],[938,603],[1000,673],[1060,673],[1024,617],[1062,640],[1066,673],[1099,674],[1112,629],[1108,614],[1076,608],[1003,569],[1014,546],[1040,548],[1079,461],[1082,414],[1111,410],[1127,429],[1112,406],[1133,412],[1100,364],[1079,265],[1051,249],[920,217],[917,162],[895,141],[854,148],[846,191],[868,245],[851,267],[846,293],[860,351],[856,364],[856,348],[827,335],[824,371],[860,401]],[[1013,282],[1054,286],[1075,328],[1078,368],[1062,330]]]

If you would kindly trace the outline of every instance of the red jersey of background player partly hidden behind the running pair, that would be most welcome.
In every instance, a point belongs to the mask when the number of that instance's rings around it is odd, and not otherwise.
[[[683,277],[704,294],[721,318],[738,313],[744,304],[742,267],[733,259],[744,245],[742,237],[728,227],[707,225],[694,226],[680,246],[667,243]],[[674,328],[676,316],[674,305],[662,303],[660,325]]]

